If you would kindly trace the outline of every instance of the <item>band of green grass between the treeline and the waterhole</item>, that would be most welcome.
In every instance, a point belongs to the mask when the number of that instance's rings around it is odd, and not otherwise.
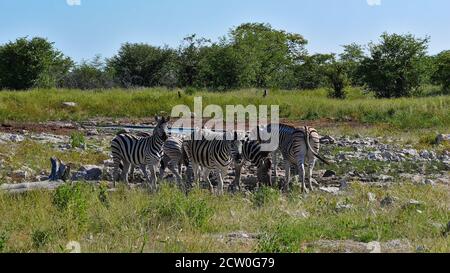
[[[192,93],[192,92],[191,92]],[[175,105],[193,110],[194,96],[203,97],[203,106],[279,105],[282,118],[293,121],[354,120],[365,124],[387,124],[397,129],[448,128],[449,96],[374,99],[360,89],[350,88],[347,100],[327,98],[326,89],[271,91],[268,98],[256,89],[227,93],[197,91],[178,98],[177,90],[32,90],[0,92],[0,121],[86,120],[94,117],[148,118]],[[77,103],[67,108],[62,102]]]

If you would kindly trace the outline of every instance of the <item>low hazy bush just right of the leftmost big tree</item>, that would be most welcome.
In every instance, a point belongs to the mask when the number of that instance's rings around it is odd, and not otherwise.
[[[64,77],[61,86],[73,89],[111,88],[114,86],[114,79],[102,58],[95,56],[92,61],[82,61],[75,66]]]

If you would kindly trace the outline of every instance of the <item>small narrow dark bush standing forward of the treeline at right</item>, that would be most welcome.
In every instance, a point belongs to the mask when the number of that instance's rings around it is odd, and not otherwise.
[[[345,87],[348,85],[346,65],[343,62],[333,61],[325,71],[328,84],[331,87],[329,96],[336,99],[345,99]]]

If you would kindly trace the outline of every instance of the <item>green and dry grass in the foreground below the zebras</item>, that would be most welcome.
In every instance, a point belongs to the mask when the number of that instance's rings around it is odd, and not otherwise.
[[[368,192],[377,202],[368,201]],[[185,196],[169,186],[156,194],[120,188],[101,197],[101,188],[87,184],[0,194],[0,252],[67,252],[69,241],[80,242],[83,252],[301,252],[310,251],[302,244],[325,239],[407,239],[430,252],[450,251],[450,238],[441,228],[450,219],[445,187],[406,183],[383,189],[354,183],[339,196],[257,194],[266,198],[217,197],[200,190]],[[380,206],[386,196],[397,198],[392,207]],[[267,202],[255,203],[263,199]],[[405,206],[411,199],[423,205]],[[338,203],[353,208],[337,212]],[[236,231],[259,236],[226,237]]]

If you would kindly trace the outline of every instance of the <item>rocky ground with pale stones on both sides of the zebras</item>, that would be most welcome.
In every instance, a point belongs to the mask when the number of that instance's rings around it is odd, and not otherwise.
[[[111,124],[114,124],[113,122]],[[0,131],[0,146],[11,143],[20,145],[24,142],[35,142],[50,145],[55,152],[80,151],[84,153],[101,154],[105,157],[103,162],[80,165],[78,162],[66,162],[72,168],[70,179],[73,181],[112,180],[112,161],[109,158],[109,141],[114,136],[111,129],[96,128],[96,122],[82,126],[75,123],[47,123],[39,125],[5,126]],[[25,128],[25,129],[24,129]],[[29,129],[29,130],[27,130]],[[73,147],[73,134],[79,132],[85,135],[78,147]],[[448,136],[442,135],[440,141],[448,141]],[[399,144],[394,137],[372,138],[363,136],[331,136],[324,138],[321,154],[330,161],[330,166],[318,164],[314,171],[314,179],[319,183],[321,190],[338,193],[345,189],[347,183],[361,181],[374,185],[389,184],[392,182],[412,181],[417,184],[435,185],[450,182],[450,152],[437,149],[417,150],[413,145]],[[0,173],[3,183],[19,183],[45,181],[50,174],[50,163],[45,169],[32,169],[26,160],[23,166],[12,169],[9,161],[15,157],[15,151],[10,150],[8,155],[0,154]],[[100,164],[99,164],[100,163]],[[255,186],[255,169],[245,166],[242,172],[243,183],[247,189]],[[226,183],[233,180],[233,170]],[[280,180],[284,171],[278,170]],[[1,177],[0,177],[1,178]],[[171,174],[167,174],[171,180]],[[134,172],[133,183],[142,183],[143,175],[140,170]]]

